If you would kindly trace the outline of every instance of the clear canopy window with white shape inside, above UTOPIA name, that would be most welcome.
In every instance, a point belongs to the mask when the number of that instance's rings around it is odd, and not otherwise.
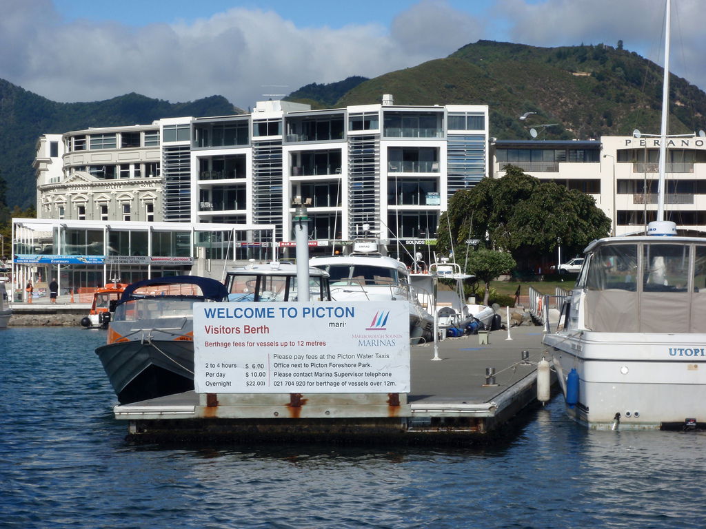
[[[642,249],[642,290],[686,292],[689,247],[683,244],[646,244]]]

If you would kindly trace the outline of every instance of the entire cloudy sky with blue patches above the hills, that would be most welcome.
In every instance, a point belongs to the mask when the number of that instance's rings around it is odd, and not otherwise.
[[[665,0],[0,0],[0,78],[61,102],[186,102],[375,77],[478,39],[618,39],[662,63]],[[706,89],[706,0],[673,0],[671,71]]]

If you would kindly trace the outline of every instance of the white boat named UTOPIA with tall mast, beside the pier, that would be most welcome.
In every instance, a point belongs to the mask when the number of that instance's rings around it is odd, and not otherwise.
[[[669,1],[665,72],[669,72]],[[645,236],[594,241],[544,343],[571,418],[592,428],[706,425],[706,238],[664,221],[666,95],[657,221]]]

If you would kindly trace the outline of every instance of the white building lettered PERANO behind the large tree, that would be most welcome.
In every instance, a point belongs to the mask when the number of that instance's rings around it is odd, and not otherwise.
[[[706,138],[671,138],[667,147],[666,220],[676,222],[680,232],[706,231]],[[616,235],[644,232],[657,216],[659,138],[496,140],[493,178],[505,174],[505,164],[588,193]]]

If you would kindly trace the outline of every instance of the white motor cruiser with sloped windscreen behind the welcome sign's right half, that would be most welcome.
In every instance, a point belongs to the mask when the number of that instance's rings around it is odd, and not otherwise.
[[[354,241],[349,255],[312,257],[309,265],[330,276],[335,301],[402,301],[409,303],[411,343],[433,339],[433,317],[426,307],[433,303],[429,291],[412,291],[405,263],[382,255],[378,241]]]

